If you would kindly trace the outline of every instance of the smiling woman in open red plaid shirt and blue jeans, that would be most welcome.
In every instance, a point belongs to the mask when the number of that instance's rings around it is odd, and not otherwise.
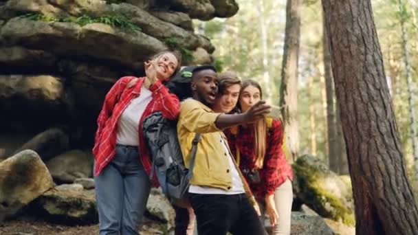
[[[144,63],[146,77],[120,78],[104,99],[93,148],[100,235],[138,234],[152,184],[142,122],[156,111],[177,118],[179,99],[162,82],[180,65],[173,52],[156,54]]]

